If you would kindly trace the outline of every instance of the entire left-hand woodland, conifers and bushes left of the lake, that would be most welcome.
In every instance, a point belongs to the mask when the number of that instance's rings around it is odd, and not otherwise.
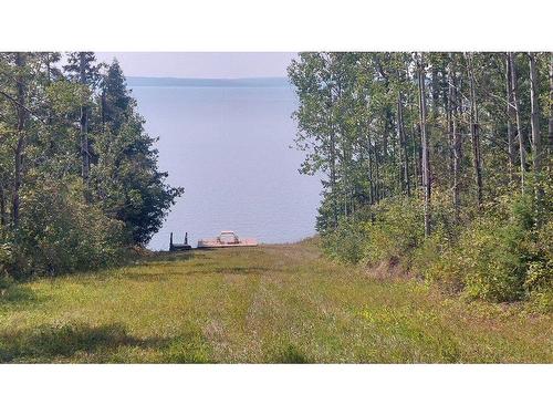
[[[62,58],[0,53],[0,284],[114,263],[182,194],[117,61]]]

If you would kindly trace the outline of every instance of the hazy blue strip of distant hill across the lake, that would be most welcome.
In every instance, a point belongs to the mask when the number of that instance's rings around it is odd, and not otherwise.
[[[197,79],[197,77],[149,77],[128,76],[127,85],[134,86],[180,86],[180,87],[289,87],[288,77],[240,77],[240,79]]]

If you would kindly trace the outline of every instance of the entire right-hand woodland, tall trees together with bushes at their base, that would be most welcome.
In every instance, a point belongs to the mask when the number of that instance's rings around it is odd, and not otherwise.
[[[553,308],[550,52],[300,53],[289,77],[331,257]]]

